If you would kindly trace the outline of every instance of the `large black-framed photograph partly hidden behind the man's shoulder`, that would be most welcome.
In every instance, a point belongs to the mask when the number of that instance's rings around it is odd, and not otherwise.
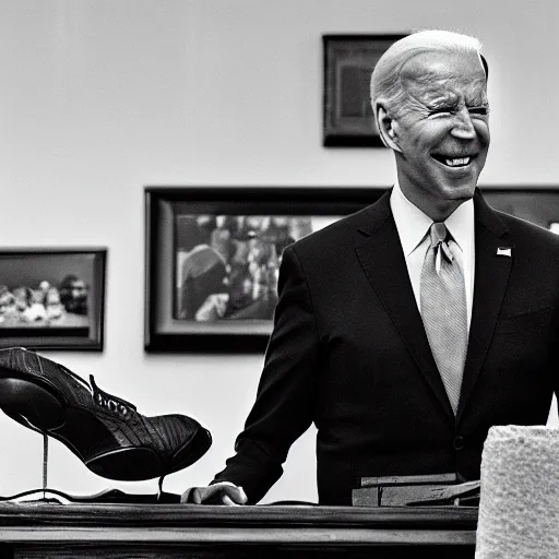
[[[285,247],[384,189],[146,187],[148,352],[264,352]]]

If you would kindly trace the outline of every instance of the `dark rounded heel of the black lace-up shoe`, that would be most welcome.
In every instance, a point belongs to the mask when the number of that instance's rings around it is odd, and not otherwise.
[[[39,431],[59,427],[63,423],[62,405],[48,390],[16,378],[0,378],[0,407],[19,423],[21,417]]]

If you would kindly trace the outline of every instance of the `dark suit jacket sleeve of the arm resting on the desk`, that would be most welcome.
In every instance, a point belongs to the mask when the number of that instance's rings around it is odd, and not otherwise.
[[[312,300],[294,246],[284,250],[274,313],[255,403],[236,454],[213,480],[242,486],[258,502],[281,477],[289,447],[313,418],[319,336]]]

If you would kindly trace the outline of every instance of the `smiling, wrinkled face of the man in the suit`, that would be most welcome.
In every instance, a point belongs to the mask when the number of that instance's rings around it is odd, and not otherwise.
[[[404,64],[402,83],[405,107],[392,126],[403,192],[413,202],[468,200],[490,139],[481,61],[476,53],[418,55]]]

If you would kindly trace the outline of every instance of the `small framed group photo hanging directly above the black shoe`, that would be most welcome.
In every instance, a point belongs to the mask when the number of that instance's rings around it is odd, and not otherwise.
[[[0,347],[103,350],[105,248],[0,249]]]

